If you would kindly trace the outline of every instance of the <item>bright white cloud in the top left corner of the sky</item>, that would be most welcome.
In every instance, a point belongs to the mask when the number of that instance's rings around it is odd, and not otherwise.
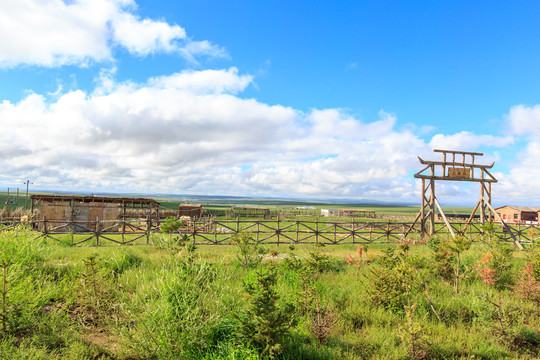
[[[138,56],[177,53],[224,56],[208,42],[162,20],[140,18],[133,0],[17,0],[0,2],[0,67],[55,67],[111,61],[115,47]]]

